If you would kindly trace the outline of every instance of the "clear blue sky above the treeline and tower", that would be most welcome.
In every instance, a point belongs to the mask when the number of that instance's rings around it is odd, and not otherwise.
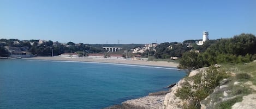
[[[0,0],[0,39],[182,42],[256,35],[255,0]]]

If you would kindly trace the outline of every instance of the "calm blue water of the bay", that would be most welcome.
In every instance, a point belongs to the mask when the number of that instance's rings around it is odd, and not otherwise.
[[[103,108],[163,90],[184,72],[102,63],[0,60],[0,108]]]

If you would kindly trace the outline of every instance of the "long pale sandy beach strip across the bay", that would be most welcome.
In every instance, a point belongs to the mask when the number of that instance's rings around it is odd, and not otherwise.
[[[139,61],[139,60],[122,60],[122,59],[89,59],[89,58],[68,58],[68,57],[29,57],[22,59],[31,60],[56,60],[56,61],[81,61],[81,62],[104,62],[104,63],[121,63],[128,65],[158,66],[177,68],[178,63],[166,61]]]

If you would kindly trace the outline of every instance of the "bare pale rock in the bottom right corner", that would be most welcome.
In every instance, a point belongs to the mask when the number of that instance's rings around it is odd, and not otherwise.
[[[256,107],[256,94],[249,94],[243,97],[242,102],[236,102],[232,109],[254,109]]]

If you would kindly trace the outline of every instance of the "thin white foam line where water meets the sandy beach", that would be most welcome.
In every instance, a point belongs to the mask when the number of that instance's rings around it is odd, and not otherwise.
[[[40,60],[40,61],[46,61],[46,62],[98,63],[98,64],[106,64],[106,65],[120,65],[120,66],[134,66],[134,67],[182,70],[182,69],[171,68],[171,67],[157,67],[157,66],[147,66],[147,65],[130,65],[130,64],[126,64],[126,63],[87,62],[87,61],[59,61],[59,60]]]

